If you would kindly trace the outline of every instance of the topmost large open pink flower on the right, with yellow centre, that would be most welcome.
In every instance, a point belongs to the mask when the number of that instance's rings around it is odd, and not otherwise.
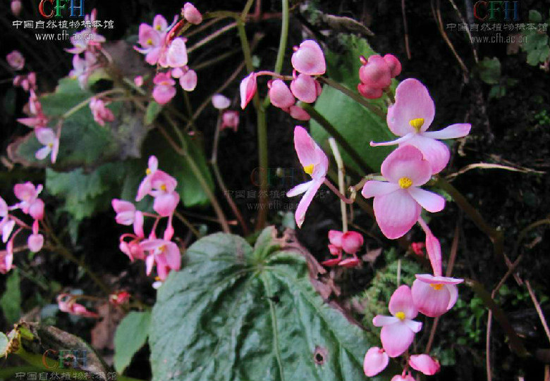
[[[371,146],[415,146],[432,166],[432,173],[439,173],[451,156],[446,144],[436,139],[453,139],[470,133],[470,123],[456,123],[443,130],[427,131],[435,115],[434,100],[419,80],[408,78],[396,89],[396,103],[388,108],[387,123],[391,132],[400,138],[391,142],[374,143]]]

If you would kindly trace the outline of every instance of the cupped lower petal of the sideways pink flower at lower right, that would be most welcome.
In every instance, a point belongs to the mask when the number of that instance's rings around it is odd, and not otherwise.
[[[412,301],[420,313],[435,318],[448,311],[451,294],[443,285],[439,289],[435,289],[428,283],[417,279],[412,283]]]

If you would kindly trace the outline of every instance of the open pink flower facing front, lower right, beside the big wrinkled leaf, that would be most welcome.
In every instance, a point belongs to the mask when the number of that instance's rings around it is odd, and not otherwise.
[[[408,286],[403,285],[393,292],[389,311],[393,316],[374,316],[372,324],[382,327],[380,339],[388,356],[397,357],[408,349],[415,333],[422,329],[422,323],[412,320],[418,311]]]

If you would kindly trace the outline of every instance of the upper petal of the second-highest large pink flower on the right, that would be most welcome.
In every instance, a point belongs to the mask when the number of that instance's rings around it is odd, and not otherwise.
[[[412,180],[412,185],[417,187],[425,184],[432,177],[432,167],[428,161],[424,160],[419,149],[408,145],[411,140],[407,145],[400,146],[389,154],[380,169],[382,175],[390,182],[397,183],[402,177],[408,177]]]

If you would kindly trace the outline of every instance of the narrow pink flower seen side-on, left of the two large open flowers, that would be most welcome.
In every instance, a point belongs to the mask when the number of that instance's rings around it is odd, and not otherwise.
[[[287,197],[304,193],[295,212],[296,225],[301,227],[304,223],[307,208],[325,180],[326,172],[329,170],[329,158],[326,157],[304,127],[299,125],[294,128],[294,148],[304,172],[312,177],[311,181],[296,185],[286,193]]]

